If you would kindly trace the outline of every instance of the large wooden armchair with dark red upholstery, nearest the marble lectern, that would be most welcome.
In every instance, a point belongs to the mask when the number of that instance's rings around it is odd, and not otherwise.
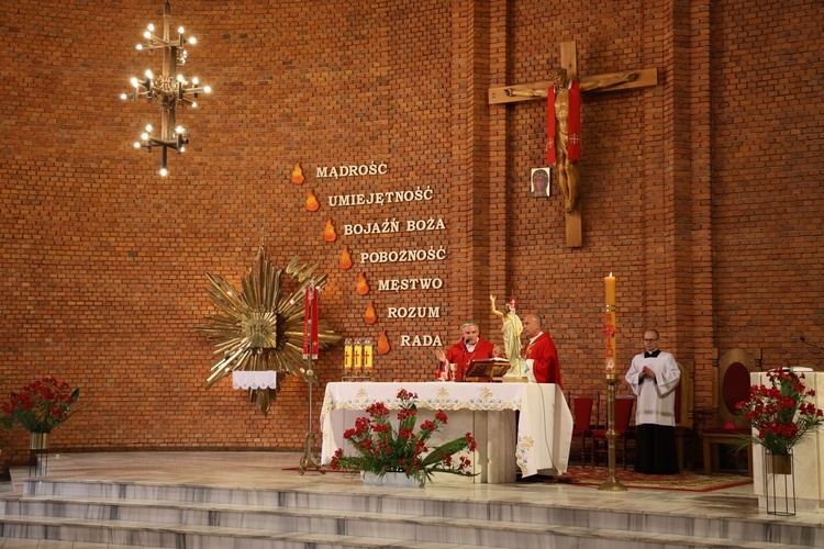
[[[749,396],[749,373],[760,371],[761,350],[753,354],[744,349],[732,349],[719,357],[713,350],[712,412],[713,418],[704,427],[704,474],[717,470],[719,446],[735,445],[742,435],[749,435],[750,427],[737,414],[735,405]],[[753,447],[747,448],[747,473],[753,477]]]

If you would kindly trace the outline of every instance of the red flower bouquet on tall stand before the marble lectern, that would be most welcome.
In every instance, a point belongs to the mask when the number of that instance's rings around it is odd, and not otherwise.
[[[750,385],[749,399],[737,404],[738,413],[758,433],[742,445],[761,445],[773,455],[788,455],[809,430],[824,423],[824,413],[808,399],[815,391],[801,381],[804,374],[791,370],[767,373],[770,386]]]

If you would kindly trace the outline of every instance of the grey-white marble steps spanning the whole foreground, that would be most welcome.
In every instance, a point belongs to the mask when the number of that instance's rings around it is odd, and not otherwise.
[[[824,547],[824,526],[457,501],[420,490],[346,493],[44,477],[0,498],[0,537],[181,549],[787,548]]]

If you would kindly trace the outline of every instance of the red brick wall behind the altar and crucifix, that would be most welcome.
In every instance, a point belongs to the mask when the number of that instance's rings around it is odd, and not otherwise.
[[[156,152],[131,146],[158,112],[118,99],[131,76],[159,70],[134,44],[162,3],[23,0],[0,33],[0,382],[8,392],[48,373],[81,386],[89,406],[53,445],[302,449],[305,385],[287,380],[267,417],[229,380],[207,391],[212,347],[192,329],[211,311],[205,273],[240,284],[261,231],[276,264],[297,254],[329,273],[321,311],[336,332],[387,329],[379,380],[431,377],[433,349],[402,348],[402,334],[448,345],[476,317],[500,341],[494,293],[544,315],[567,389],[600,389],[610,271],[620,362],[658,327],[694,363],[697,405],[709,404],[712,347],[762,347],[765,366],[821,362],[792,339],[824,346],[820,2],[172,3],[172,27],[199,38],[183,69],[215,91],[178,115],[191,144],[167,178]],[[528,197],[544,102],[487,105],[490,85],[545,79],[567,40],[581,75],[659,70],[655,88],[584,98],[580,249],[565,246],[557,187]],[[297,161],[301,187],[289,181]],[[389,172],[316,177],[369,163]],[[419,186],[434,200],[329,204]],[[343,235],[345,224],[430,217],[446,231]],[[322,238],[329,219],[334,244]],[[342,271],[344,245],[356,260],[443,245],[447,260]],[[412,277],[444,289],[377,291]],[[363,322],[370,300],[375,326]],[[441,317],[386,316],[413,305]],[[342,363],[343,346],[322,354],[322,381]],[[22,457],[24,438],[4,434],[3,455]]]

